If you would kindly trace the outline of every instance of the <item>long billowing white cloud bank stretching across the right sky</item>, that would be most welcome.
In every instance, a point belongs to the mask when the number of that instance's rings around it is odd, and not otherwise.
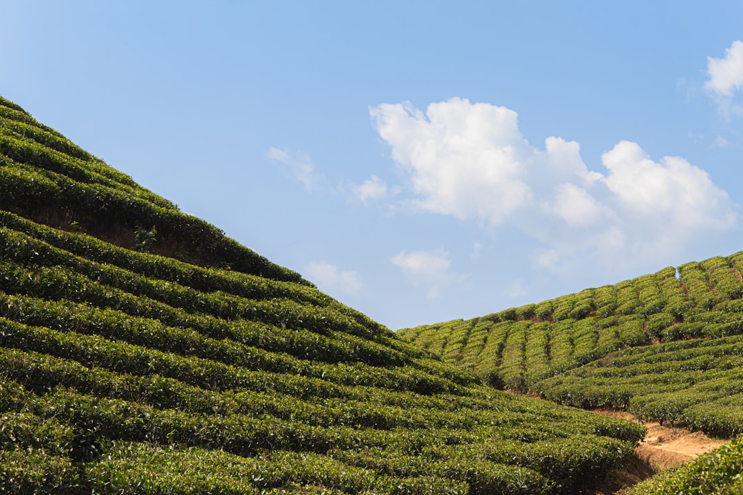
[[[496,105],[452,98],[425,112],[384,104],[370,115],[408,181],[407,204],[515,227],[539,243],[533,260],[543,269],[662,263],[686,241],[736,224],[736,206],[707,172],[681,157],[653,160],[635,142],[618,142],[597,171],[577,142],[531,145],[516,112]],[[403,252],[395,263],[418,273],[422,258]],[[429,261],[446,271],[447,258]]]

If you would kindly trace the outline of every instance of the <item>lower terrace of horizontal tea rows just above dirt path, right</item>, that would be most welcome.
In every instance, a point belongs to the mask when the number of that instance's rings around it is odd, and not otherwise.
[[[743,433],[743,335],[634,347],[535,385],[578,407],[619,407],[717,436]]]

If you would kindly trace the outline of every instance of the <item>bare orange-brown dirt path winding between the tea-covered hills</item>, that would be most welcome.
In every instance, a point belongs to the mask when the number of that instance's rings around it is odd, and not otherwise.
[[[632,414],[595,410],[594,413],[615,418],[640,421]],[[648,429],[643,442],[635,449],[635,459],[623,471],[613,473],[607,485],[595,495],[621,493],[623,488],[635,485],[666,468],[684,464],[696,459],[703,453],[715,450],[727,441],[710,439],[701,431],[689,431],[683,428],[661,426],[659,423],[643,423]]]

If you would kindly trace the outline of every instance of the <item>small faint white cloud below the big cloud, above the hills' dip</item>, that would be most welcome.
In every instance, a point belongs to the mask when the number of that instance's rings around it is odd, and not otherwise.
[[[426,286],[429,299],[437,298],[444,289],[460,287],[467,280],[467,275],[450,270],[450,255],[443,250],[401,251],[392,263],[403,270],[414,286]]]

